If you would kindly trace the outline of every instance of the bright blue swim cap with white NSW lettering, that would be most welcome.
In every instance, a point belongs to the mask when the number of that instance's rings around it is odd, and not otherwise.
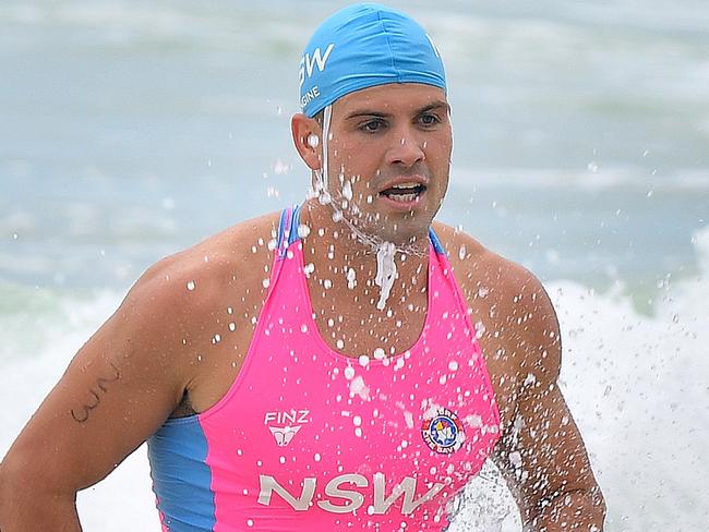
[[[300,107],[312,118],[338,98],[387,83],[446,89],[431,37],[410,16],[376,3],[358,3],[327,19],[300,61]]]

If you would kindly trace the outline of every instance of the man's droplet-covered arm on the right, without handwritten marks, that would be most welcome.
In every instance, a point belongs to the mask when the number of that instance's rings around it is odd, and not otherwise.
[[[510,313],[520,356],[516,422],[505,427],[495,461],[515,493],[525,531],[602,531],[605,504],[581,435],[558,388],[556,314],[531,275]],[[521,318],[521,319],[520,319]]]

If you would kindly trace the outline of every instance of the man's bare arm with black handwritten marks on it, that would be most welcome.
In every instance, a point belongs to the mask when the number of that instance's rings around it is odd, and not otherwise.
[[[180,331],[169,326],[180,304],[164,295],[159,270],[79,351],[1,462],[2,532],[80,531],[76,492],[108,475],[180,402],[187,372]]]

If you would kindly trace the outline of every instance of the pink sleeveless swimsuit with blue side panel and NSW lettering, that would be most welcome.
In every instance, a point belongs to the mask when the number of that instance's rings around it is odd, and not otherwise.
[[[500,437],[444,251],[431,231],[429,306],[413,347],[345,356],[313,322],[298,210],[281,215],[268,294],[231,388],[148,440],[163,530],[443,530]]]

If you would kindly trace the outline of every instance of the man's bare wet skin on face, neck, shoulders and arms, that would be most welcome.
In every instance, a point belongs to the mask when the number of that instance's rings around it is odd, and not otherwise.
[[[406,261],[397,255],[399,278],[387,307],[378,311],[372,250],[333,220],[332,205],[316,198],[304,205],[301,221],[310,232],[303,254],[314,268],[308,286],[315,322],[332,348],[352,356],[378,347],[400,352],[421,331],[426,233],[446,191],[452,145],[438,89],[406,85],[361,93],[343,98],[333,110],[331,193],[341,201],[341,172],[343,183],[349,180],[352,189],[351,202],[339,204],[344,216],[369,234],[412,246],[412,253]],[[320,124],[296,116],[292,132],[305,164],[320,169],[322,150],[307,142],[310,134],[322,134]],[[426,183],[410,209],[380,195],[401,176]],[[3,532],[80,530],[77,489],[103,479],[170,415],[203,412],[227,392],[266,295],[264,280],[273,262],[267,244],[277,223],[278,214],[239,223],[160,261],[139,279],[2,462]],[[549,532],[566,530],[561,522],[601,530],[603,500],[556,386],[561,344],[549,298],[520,266],[462,232],[437,222],[434,228],[472,322],[484,327],[480,342],[503,431],[493,458],[518,497],[522,520],[530,530],[542,524]],[[346,277],[350,268],[358,279],[353,289]],[[329,325],[337,316],[343,321]],[[52,434],[51,446],[47,434]]]

